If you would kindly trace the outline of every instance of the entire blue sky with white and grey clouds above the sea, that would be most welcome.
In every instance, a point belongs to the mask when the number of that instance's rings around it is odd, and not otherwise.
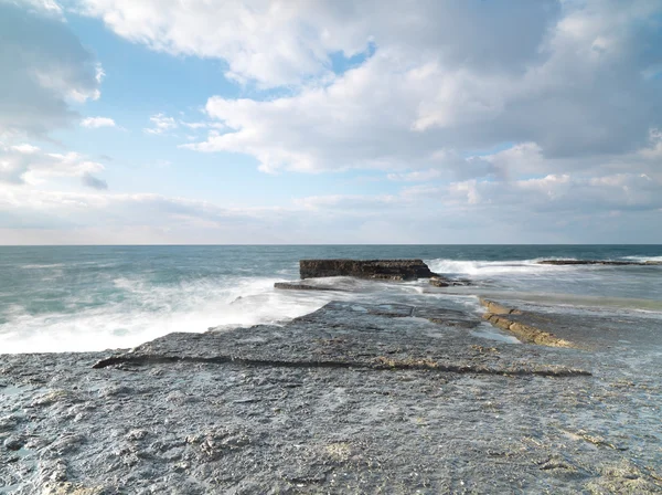
[[[662,0],[0,0],[0,244],[662,243]]]

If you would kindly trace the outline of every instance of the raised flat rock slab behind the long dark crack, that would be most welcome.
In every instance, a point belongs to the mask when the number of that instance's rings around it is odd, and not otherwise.
[[[413,318],[416,316],[415,318]],[[478,315],[442,307],[332,302],[285,327],[255,326],[206,334],[170,334],[130,352],[100,360],[121,364],[242,362],[255,366],[425,368],[439,371],[574,376],[573,352],[532,355],[508,346],[509,358],[481,354],[485,340],[469,328]]]

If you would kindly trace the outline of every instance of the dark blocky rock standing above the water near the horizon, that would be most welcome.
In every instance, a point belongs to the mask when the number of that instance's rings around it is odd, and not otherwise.
[[[388,281],[430,278],[436,274],[423,260],[301,260],[301,278],[355,276]]]

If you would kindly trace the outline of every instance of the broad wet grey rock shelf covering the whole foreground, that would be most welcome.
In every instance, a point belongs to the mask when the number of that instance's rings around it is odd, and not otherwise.
[[[662,493],[654,330],[508,317],[580,348],[485,338],[441,301],[333,302],[131,351],[0,355],[0,493]]]

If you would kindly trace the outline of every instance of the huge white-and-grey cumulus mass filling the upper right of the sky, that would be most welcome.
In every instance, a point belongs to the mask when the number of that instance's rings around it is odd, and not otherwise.
[[[468,156],[504,141],[547,158],[629,152],[662,124],[659,2],[81,3],[153,50],[293,88],[210,98],[227,129],[186,145],[252,155],[265,171],[445,168],[429,159],[439,148]],[[339,53],[369,60],[338,74]],[[480,165],[476,175],[493,172]]]

